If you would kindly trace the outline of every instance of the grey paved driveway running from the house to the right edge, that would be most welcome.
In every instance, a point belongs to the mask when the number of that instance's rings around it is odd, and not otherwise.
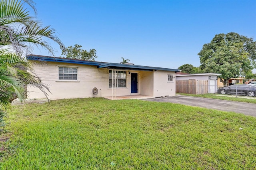
[[[232,111],[236,113],[243,113],[244,115],[250,115],[256,117],[256,104],[226,101],[219,99],[208,99],[202,97],[191,97],[191,96],[172,96],[172,97],[161,97],[154,99],[144,99],[145,101],[157,101],[157,102],[170,102],[179,103],[189,106],[204,107],[208,109],[217,109],[221,111]]]

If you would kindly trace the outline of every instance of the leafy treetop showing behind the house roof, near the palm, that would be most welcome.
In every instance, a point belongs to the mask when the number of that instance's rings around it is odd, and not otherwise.
[[[74,47],[69,46],[62,50],[62,55],[65,55],[66,58],[73,58],[73,59],[83,59],[94,61],[96,56],[96,49],[90,49],[87,51],[86,49],[81,49],[82,45],[74,45]]]

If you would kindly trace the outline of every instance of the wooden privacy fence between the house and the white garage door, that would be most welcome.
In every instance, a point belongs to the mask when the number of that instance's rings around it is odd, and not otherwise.
[[[208,80],[176,80],[176,93],[193,95],[208,93]]]

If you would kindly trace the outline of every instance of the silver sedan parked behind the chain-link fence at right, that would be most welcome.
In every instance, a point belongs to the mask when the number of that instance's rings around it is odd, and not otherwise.
[[[227,87],[220,87],[217,90],[218,93],[230,94],[230,95],[248,95],[255,96],[256,95],[256,86],[250,84],[242,84],[242,85],[230,85]]]

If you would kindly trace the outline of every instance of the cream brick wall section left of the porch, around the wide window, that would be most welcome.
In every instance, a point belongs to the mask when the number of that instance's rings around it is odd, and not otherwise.
[[[59,81],[58,65],[78,67],[77,81]],[[99,95],[105,95],[107,91],[102,91],[102,87],[108,87],[108,70],[97,69],[96,66],[68,64],[68,63],[47,63],[34,64],[34,72],[45,85],[48,85],[52,94],[50,99],[83,98],[93,97],[92,89],[97,87]],[[28,87],[28,97],[35,99],[45,98],[43,93],[36,87]]]

